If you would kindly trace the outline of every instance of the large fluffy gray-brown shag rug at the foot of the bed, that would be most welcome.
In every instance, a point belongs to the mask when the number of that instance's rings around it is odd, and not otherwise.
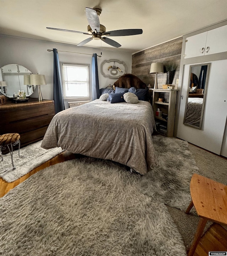
[[[166,205],[187,208],[199,171],[187,142],[153,141],[159,165],[144,176],[81,157],[16,186],[0,198],[0,255],[186,256]]]

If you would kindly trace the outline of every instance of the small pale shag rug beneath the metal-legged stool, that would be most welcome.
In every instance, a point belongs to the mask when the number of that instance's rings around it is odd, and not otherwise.
[[[6,182],[13,182],[63,152],[60,147],[48,150],[41,148],[41,142],[42,141],[38,141],[21,148],[21,157],[19,157],[17,151],[13,152],[13,163],[16,167],[15,170],[13,170],[12,167],[10,153],[4,156],[3,161],[0,161],[0,177]]]

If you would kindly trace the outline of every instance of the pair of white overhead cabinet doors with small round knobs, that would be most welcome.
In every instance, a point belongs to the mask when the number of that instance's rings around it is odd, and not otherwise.
[[[184,59],[227,51],[227,25],[186,38]]]

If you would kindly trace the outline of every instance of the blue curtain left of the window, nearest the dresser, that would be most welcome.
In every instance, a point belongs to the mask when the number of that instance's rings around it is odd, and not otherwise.
[[[54,52],[54,103],[55,103],[55,113],[65,109],[62,85],[61,85],[61,73],[60,64],[57,49],[53,49]]]

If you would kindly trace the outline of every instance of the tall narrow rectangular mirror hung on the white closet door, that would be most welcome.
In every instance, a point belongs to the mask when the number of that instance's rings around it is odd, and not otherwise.
[[[191,65],[184,113],[184,124],[201,129],[210,63]]]

